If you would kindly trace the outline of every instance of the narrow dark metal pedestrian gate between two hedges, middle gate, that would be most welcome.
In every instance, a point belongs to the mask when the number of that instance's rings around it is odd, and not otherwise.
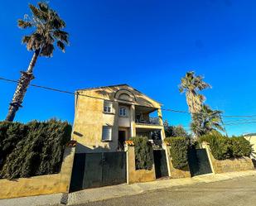
[[[156,178],[168,176],[166,151],[154,150],[153,155],[154,155]]]

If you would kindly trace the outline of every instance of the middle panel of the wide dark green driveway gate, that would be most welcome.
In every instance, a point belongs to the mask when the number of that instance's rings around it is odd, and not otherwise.
[[[102,163],[102,153],[85,154],[83,188],[97,188],[102,186]]]

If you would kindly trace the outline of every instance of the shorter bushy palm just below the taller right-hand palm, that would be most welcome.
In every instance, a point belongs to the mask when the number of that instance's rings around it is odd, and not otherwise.
[[[191,122],[191,130],[196,134],[196,137],[218,130],[224,132],[225,130],[221,126],[221,113],[219,110],[212,110],[210,106],[204,104],[200,113],[193,115],[193,122]]]

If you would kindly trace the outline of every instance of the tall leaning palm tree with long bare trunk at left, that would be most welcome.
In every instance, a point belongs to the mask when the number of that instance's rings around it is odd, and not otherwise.
[[[56,11],[52,10],[45,2],[38,2],[38,7],[29,5],[32,16],[18,20],[18,26],[22,29],[33,29],[29,36],[23,36],[22,43],[27,45],[27,50],[34,52],[27,71],[22,71],[21,78],[17,84],[17,89],[10,103],[6,117],[7,121],[13,121],[17,110],[22,107],[22,101],[27,91],[27,87],[34,79],[33,69],[38,56],[51,57],[55,45],[65,52],[65,45],[69,44],[69,34],[62,29],[65,22],[59,17]]]

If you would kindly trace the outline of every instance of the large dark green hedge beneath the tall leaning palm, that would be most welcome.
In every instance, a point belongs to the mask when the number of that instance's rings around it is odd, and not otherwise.
[[[14,179],[60,172],[68,122],[0,122],[0,178]]]

